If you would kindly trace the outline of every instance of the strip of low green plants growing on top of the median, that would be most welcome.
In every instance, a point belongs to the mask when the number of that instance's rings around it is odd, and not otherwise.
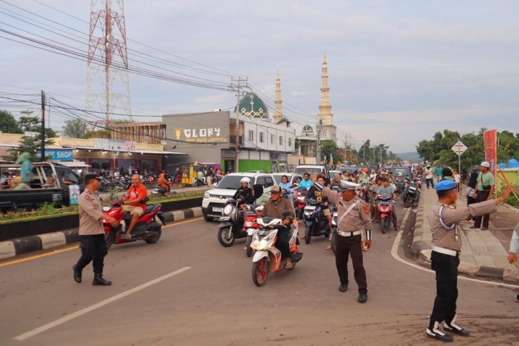
[[[183,201],[185,199],[193,199],[193,198],[201,198],[203,197],[205,191],[190,191],[190,192],[182,192],[176,193],[173,196],[165,196],[165,197],[153,197],[150,198],[147,202],[148,204],[155,203],[166,203],[166,202],[174,202],[174,201]],[[104,206],[108,205],[107,199],[103,202]],[[77,215],[78,214],[78,206],[71,205],[70,207],[56,207],[55,203],[50,204],[41,204],[38,209],[28,211],[18,210],[18,211],[7,211],[5,213],[0,213],[0,225],[18,221],[32,221],[39,219],[46,219],[51,217],[62,217],[67,215]]]

